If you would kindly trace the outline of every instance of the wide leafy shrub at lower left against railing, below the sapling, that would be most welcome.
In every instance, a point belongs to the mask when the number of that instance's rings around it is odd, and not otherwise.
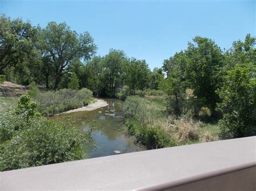
[[[1,144],[1,171],[85,158],[82,146],[89,143],[89,139],[75,128],[44,117],[33,118],[26,125],[19,120],[15,126],[20,122],[23,129],[13,131],[11,139]],[[8,128],[8,123],[4,127]]]

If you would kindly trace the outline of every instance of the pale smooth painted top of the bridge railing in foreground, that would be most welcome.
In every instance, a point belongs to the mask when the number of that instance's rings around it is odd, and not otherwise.
[[[6,171],[0,173],[0,190],[168,189],[244,168],[255,174],[255,140],[254,136]]]

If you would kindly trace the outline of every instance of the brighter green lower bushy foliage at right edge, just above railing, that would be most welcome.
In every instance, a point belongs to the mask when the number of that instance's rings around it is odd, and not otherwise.
[[[239,138],[256,135],[256,67],[247,63],[236,65],[225,77],[219,90],[223,102],[219,110],[224,112],[219,122],[223,138]]]

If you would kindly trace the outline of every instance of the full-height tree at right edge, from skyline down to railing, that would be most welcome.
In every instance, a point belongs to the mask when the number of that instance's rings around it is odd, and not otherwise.
[[[256,135],[256,38],[247,34],[235,41],[225,54],[225,78],[218,90],[218,109],[224,116],[219,122],[224,138]]]

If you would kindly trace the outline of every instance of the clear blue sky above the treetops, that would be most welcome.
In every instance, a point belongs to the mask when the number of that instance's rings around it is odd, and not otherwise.
[[[255,1],[4,1],[0,13],[45,27],[66,22],[88,31],[99,55],[110,48],[145,59],[151,69],[187,47],[194,36],[215,40],[222,49],[247,33],[255,36]]]

